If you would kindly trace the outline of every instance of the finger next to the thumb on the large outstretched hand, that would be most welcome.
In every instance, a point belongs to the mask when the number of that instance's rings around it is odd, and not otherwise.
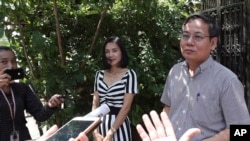
[[[172,138],[176,140],[174,128],[166,112],[161,112],[161,121],[165,127],[165,132],[168,138]]]

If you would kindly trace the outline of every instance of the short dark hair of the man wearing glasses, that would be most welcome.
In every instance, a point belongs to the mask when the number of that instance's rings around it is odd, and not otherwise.
[[[190,21],[194,19],[202,19],[205,23],[208,24],[208,32],[210,39],[213,37],[219,38],[220,36],[220,27],[218,23],[216,22],[215,18],[212,16],[206,14],[206,13],[195,13],[187,17],[187,19],[184,21],[182,30],[184,29],[184,26]]]

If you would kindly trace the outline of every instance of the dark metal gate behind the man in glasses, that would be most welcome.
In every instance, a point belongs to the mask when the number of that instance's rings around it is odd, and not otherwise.
[[[249,29],[250,0],[204,0],[202,11],[215,17],[221,27],[220,42],[213,57],[236,73],[244,85],[250,110]]]

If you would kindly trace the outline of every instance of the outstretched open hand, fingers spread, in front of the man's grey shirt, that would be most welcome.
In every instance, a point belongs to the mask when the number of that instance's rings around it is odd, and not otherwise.
[[[167,114],[162,112],[160,116],[161,119],[156,111],[151,111],[150,117],[153,119],[153,123],[147,114],[142,116],[144,125],[148,132],[146,132],[140,124],[136,126],[136,129],[143,141],[177,141],[173,126]],[[201,131],[198,128],[189,129],[183,134],[179,141],[191,141],[192,138],[195,135],[200,134],[200,132]]]

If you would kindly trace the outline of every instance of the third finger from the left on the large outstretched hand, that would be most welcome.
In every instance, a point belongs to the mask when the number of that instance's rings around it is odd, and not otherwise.
[[[163,123],[162,123],[160,117],[158,116],[157,112],[154,110],[151,111],[150,116],[151,116],[151,119],[154,119],[153,123],[154,123],[154,127],[156,127],[158,137],[159,138],[166,137],[165,128],[164,128]]]

